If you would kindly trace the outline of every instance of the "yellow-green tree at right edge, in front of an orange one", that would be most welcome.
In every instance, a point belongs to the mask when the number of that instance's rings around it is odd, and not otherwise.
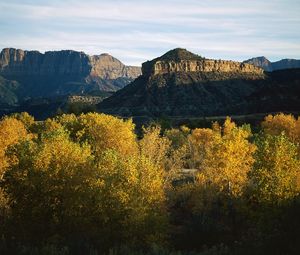
[[[297,146],[284,133],[260,135],[250,173],[255,200],[277,204],[299,195],[300,161]]]

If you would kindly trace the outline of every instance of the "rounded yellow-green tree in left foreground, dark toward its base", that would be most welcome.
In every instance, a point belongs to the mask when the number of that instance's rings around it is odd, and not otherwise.
[[[62,129],[10,149],[14,159],[3,187],[9,194],[13,231],[21,241],[49,241],[80,234],[89,224],[89,146],[69,140]]]

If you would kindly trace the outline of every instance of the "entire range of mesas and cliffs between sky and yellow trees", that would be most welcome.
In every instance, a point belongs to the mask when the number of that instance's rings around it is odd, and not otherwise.
[[[77,103],[148,119],[300,111],[299,60],[214,60],[177,48],[140,68],[108,54],[1,51],[0,115],[42,119]]]

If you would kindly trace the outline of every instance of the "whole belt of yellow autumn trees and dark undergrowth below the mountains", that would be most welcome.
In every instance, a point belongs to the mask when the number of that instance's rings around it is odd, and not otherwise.
[[[261,126],[4,117],[0,253],[299,254],[300,118]]]

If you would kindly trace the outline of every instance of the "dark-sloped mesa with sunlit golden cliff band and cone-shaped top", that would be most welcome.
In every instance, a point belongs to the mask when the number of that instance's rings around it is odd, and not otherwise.
[[[284,73],[285,79],[281,80],[280,75],[268,75],[251,64],[205,59],[185,49],[174,49],[143,63],[142,76],[105,99],[98,109],[114,115],[151,118],[263,112],[275,109],[281,101],[291,105],[290,95],[280,98],[279,91],[281,86],[282,90],[294,86],[294,92],[299,88],[299,72],[293,75],[286,79],[289,72]],[[266,91],[271,94],[275,88],[278,94],[269,98]],[[300,107],[300,93],[292,95]]]

